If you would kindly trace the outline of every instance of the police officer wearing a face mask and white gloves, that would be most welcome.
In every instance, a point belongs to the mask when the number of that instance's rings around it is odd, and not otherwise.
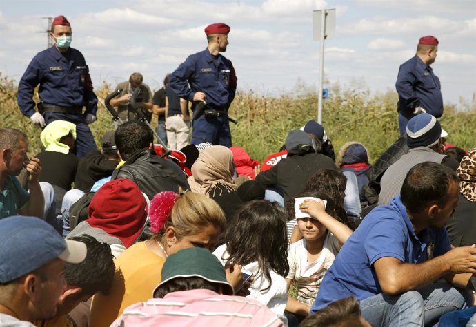
[[[68,19],[64,16],[54,18],[50,34],[55,44],[34,56],[21,77],[18,105],[25,116],[41,127],[54,120],[74,123],[77,134],[75,151],[81,158],[97,149],[88,127],[97,119],[97,96],[92,91],[83,54],[70,48],[72,30]],[[36,112],[33,94],[38,84],[41,101],[39,112]],[[84,106],[86,111],[83,113]]]

